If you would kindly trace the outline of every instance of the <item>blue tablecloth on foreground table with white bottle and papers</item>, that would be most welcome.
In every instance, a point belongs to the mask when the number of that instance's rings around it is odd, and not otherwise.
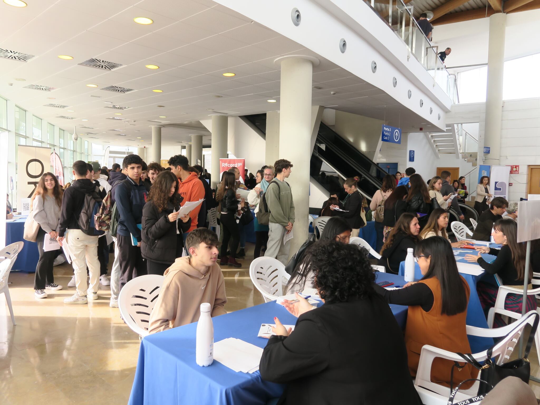
[[[389,279],[382,274],[384,279]],[[390,275],[399,278],[396,275]],[[402,278],[401,278],[402,279]],[[403,327],[407,307],[391,305]],[[274,316],[286,325],[296,318],[275,301],[241,309],[212,318],[214,341],[238,338],[265,347],[267,339],[258,338],[261,323],[274,323]],[[284,389],[253,374],[236,373],[214,361],[211,366],[195,363],[197,323],[146,336],[140,345],[139,360],[131,390],[130,405],[139,404],[265,404],[279,397]]]

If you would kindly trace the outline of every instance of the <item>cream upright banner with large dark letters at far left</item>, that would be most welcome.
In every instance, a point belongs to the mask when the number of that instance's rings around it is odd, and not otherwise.
[[[17,211],[22,211],[23,198],[30,198],[39,178],[51,168],[51,148],[41,146],[18,146],[17,157]]]

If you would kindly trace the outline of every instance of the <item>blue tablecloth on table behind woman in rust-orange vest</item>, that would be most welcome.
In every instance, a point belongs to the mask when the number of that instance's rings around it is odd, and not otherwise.
[[[495,246],[492,245],[491,247],[495,247]],[[453,250],[456,251],[456,250],[467,250],[467,249],[453,248]],[[470,249],[470,252],[458,253],[457,255],[455,255],[456,262],[474,264],[474,262],[471,263],[464,259],[465,254],[476,254],[476,251],[474,251],[473,249]],[[491,254],[482,254],[482,257],[488,262],[495,259],[495,256]],[[400,263],[399,274],[400,275],[405,274],[404,261]],[[467,284],[469,285],[469,288],[470,288],[469,305],[467,307],[467,325],[476,326],[479,328],[487,328],[488,322],[485,319],[484,311],[480,303],[480,298],[478,298],[478,293],[476,292],[476,283],[478,282],[478,280],[480,280],[480,278],[484,276],[484,274],[480,274],[480,275],[471,275],[471,274],[465,274],[465,273],[460,273],[460,274],[463,276],[465,281],[467,281]],[[415,263],[414,264],[414,279],[420,280],[421,278],[422,278],[422,273],[420,272],[420,266],[418,265],[418,263]],[[389,281],[393,281],[393,280],[389,280]],[[469,343],[471,346],[471,351],[473,353],[478,353],[493,346],[493,339],[480,338],[478,336],[469,335]]]

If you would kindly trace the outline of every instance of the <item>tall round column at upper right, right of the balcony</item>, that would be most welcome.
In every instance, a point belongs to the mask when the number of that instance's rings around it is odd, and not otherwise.
[[[488,84],[485,96],[485,130],[483,143],[478,143],[479,158],[483,156],[483,146],[490,147],[490,153],[484,156],[484,164],[487,165],[498,165],[501,157],[501,119],[503,106],[506,18],[507,15],[501,12],[489,17]],[[480,148],[482,148],[482,150],[480,150]]]

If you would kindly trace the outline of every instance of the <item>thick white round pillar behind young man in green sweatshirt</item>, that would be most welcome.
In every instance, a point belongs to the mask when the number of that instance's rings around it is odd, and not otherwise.
[[[281,61],[279,159],[293,164],[287,183],[294,200],[294,238],[289,255],[293,255],[308,237],[309,161],[312,134],[312,79],[311,57],[285,57]]]

